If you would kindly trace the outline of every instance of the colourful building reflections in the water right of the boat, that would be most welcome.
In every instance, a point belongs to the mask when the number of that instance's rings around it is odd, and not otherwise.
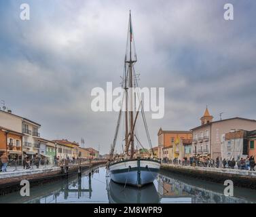
[[[158,176],[161,203],[248,203],[245,199],[226,197],[223,193],[203,189],[167,176]]]

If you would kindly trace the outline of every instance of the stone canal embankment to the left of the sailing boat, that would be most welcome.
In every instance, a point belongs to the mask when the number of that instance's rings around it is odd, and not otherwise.
[[[105,165],[106,161],[94,161],[91,163],[81,163],[69,165],[68,172],[62,167],[52,167],[47,169],[24,170],[18,172],[6,172],[0,174],[0,195],[5,195],[12,191],[18,191],[21,180],[29,180],[30,186],[53,182],[60,178],[77,175],[81,170],[90,170],[96,165]]]

